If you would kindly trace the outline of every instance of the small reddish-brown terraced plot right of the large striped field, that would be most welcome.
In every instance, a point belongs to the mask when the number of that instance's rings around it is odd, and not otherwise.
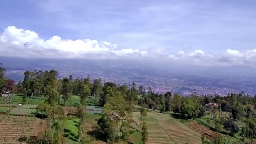
[[[188,125],[189,128],[192,128],[197,133],[205,134],[208,139],[213,139],[216,137],[216,133],[214,131],[211,131],[208,127],[201,125],[197,121],[188,121],[186,122],[186,125]]]

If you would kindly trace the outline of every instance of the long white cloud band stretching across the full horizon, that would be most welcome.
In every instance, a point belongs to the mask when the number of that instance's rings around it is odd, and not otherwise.
[[[131,59],[183,62],[200,66],[256,66],[256,49],[237,51],[227,49],[222,53],[206,53],[202,50],[169,53],[167,48],[118,48],[115,43],[97,40],[71,40],[53,36],[48,40],[36,32],[9,26],[0,35],[0,56],[26,58],[66,59]]]

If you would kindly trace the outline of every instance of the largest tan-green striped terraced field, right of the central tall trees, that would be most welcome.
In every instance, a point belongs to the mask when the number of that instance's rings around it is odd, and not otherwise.
[[[134,112],[133,117],[138,126],[139,112]],[[172,118],[167,114],[147,113],[147,144],[200,144],[201,135],[179,120]]]

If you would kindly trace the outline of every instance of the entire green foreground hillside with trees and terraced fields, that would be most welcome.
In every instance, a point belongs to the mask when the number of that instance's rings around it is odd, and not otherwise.
[[[89,75],[60,79],[54,69],[26,71],[15,83],[4,72],[0,65],[0,126],[9,132],[0,133],[0,143],[246,144],[256,138],[256,96],[243,92],[185,97]]]

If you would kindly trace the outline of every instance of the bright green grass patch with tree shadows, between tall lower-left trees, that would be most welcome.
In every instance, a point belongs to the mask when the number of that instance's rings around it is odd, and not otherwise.
[[[64,136],[67,138],[67,144],[78,144],[78,123],[79,118],[69,117],[64,125]]]

